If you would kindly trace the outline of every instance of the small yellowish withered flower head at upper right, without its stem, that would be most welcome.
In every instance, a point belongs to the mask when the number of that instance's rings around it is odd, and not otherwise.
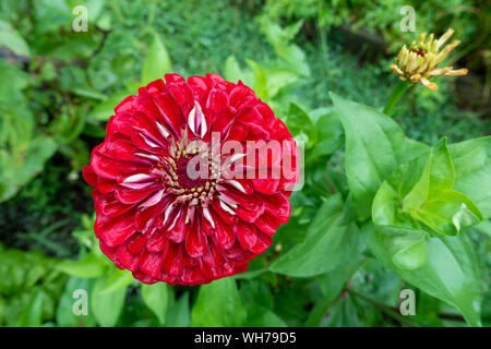
[[[430,82],[432,76],[466,75],[467,69],[438,68],[438,64],[445,59],[446,55],[460,44],[459,40],[455,40],[440,50],[453,33],[454,29],[450,28],[439,39],[435,39],[433,34],[427,38],[427,33],[422,33],[419,39],[412,41],[409,48],[405,45],[400,49],[395,64],[392,64],[391,69],[399,75],[400,80],[410,81],[415,84],[421,83],[430,89],[438,88],[436,84]]]

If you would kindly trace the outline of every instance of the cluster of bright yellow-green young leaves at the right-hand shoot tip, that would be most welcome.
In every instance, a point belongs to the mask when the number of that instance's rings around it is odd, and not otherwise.
[[[373,201],[372,218],[399,268],[416,269],[428,262],[427,238],[433,231],[455,236],[478,222],[479,209],[452,190],[454,169],[445,140],[429,156],[400,166],[382,183]]]

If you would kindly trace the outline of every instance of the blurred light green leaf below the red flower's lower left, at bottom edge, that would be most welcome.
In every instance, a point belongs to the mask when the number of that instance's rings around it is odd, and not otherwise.
[[[96,279],[89,297],[91,311],[94,313],[97,323],[104,327],[112,327],[118,322],[119,315],[124,305],[127,288],[121,288],[113,292],[100,293],[107,282],[107,277]]]

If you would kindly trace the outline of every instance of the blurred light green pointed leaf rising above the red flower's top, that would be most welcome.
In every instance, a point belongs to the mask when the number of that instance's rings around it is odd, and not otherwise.
[[[154,36],[145,62],[143,63],[142,82],[148,84],[157,79],[164,79],[165,74],[171,73],[172,67],[170,63],[169,53],[166,47],[158,37]]]

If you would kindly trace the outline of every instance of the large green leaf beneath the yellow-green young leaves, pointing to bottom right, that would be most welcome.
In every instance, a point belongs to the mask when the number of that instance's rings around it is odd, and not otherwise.
[[[472,245],[465,234],[429,238],[428,263],[415,270],[397,267],[383,237],[371,224],[362,229],[372,253],[392,272],[422,291],[457,308],[470,326],[480,326],[480,275]]]

